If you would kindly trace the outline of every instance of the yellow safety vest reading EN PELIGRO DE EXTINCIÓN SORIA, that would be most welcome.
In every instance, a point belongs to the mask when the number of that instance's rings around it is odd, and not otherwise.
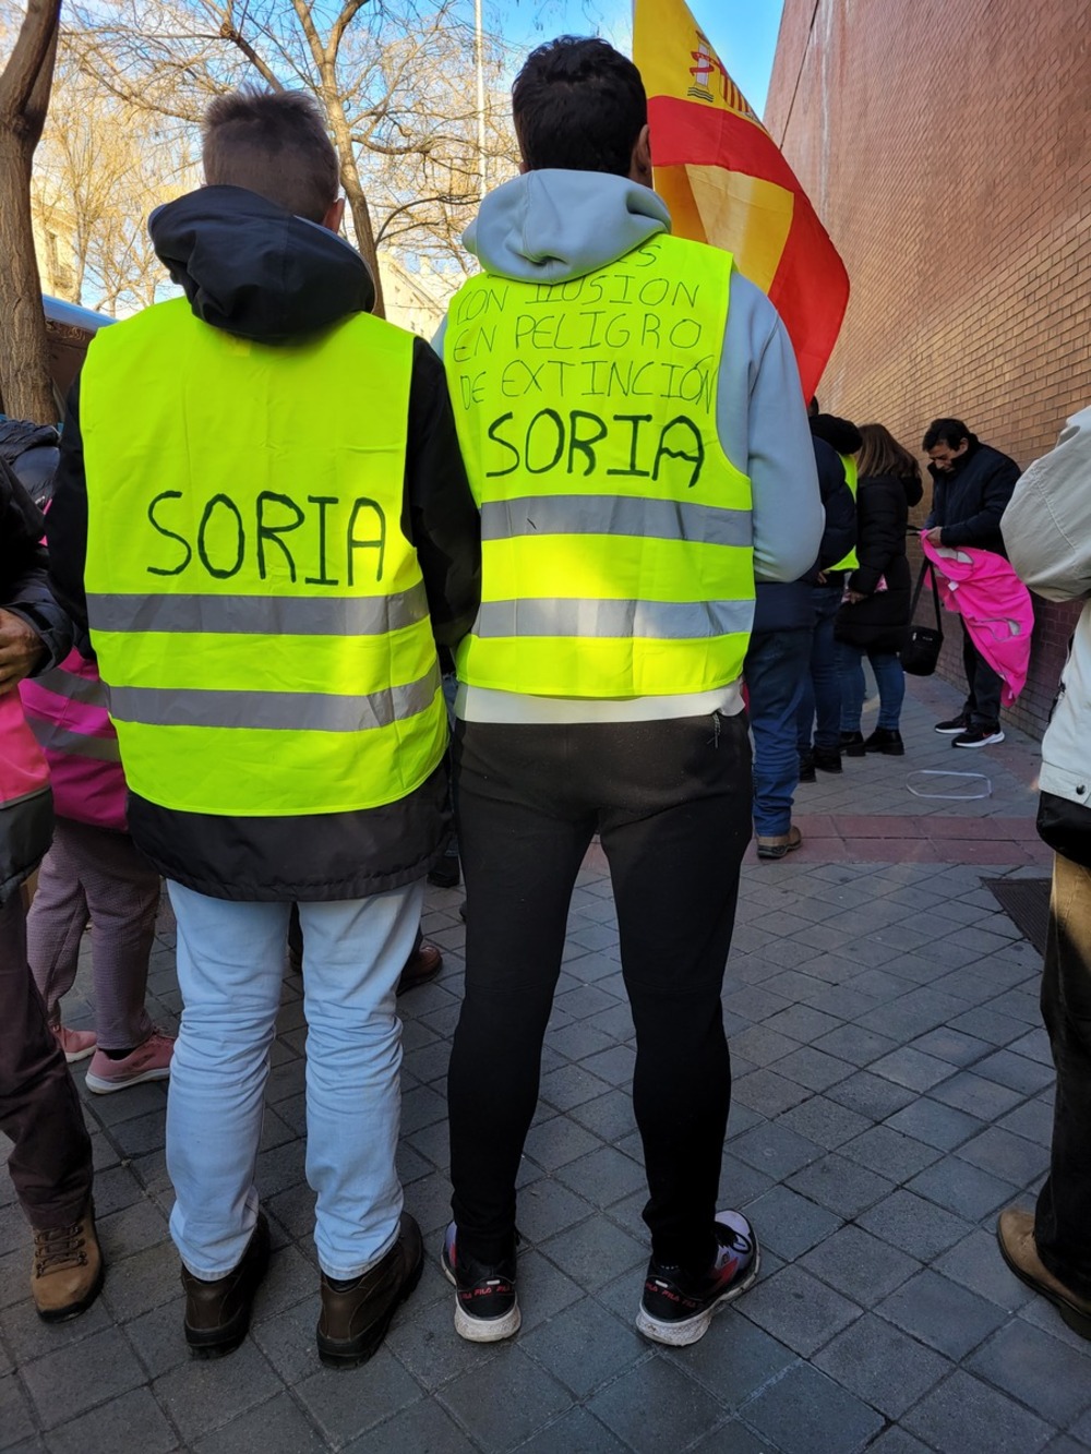
[[[742,672],[751,481],[716,430],[732,257],[660,236],[570,282],[480,275],[444,359],[481,509],[471,686],[621,699]]]

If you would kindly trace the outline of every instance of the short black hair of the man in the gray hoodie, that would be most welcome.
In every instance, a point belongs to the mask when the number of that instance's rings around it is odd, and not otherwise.
[[[512,119],[531,172],[627,177],[647,125],[647,95],[640,71],[612,45],[562,35],[527,57],[512,86]]]

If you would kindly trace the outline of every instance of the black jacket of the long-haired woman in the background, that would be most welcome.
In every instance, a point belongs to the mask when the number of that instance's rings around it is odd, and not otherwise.
[[[838,612],[835,634],[854,646],[898,651],[909,625],[911,571],[905,554],[909,510],[922,494],[919,480],[864,475],[857,484],[857,558],[848,586],[864,595]],[[877,590],[880,580],[886,590]]]

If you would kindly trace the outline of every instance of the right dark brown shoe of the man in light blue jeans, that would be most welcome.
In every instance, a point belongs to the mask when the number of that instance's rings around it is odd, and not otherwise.
[[[358,1368],[378,1352],[399,1304],[420,1281],[423,1266],[420,1227],[403,1211],[394,1246],[355,1282],[337,1287],[323,1272],[319,1358],[327,1368]]]

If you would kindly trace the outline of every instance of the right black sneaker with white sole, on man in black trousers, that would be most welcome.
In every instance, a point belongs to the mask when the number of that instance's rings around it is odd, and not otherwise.
[[[708,1332],[713,1313],[754,1285],[761,1252],[754,1227],[740,1211],[716,1213],[719,1249],[713,1265],[697,1278],[682,1268],[662,1266],[652,1258],[637,1332],[656,1343],[687,1348]]]

